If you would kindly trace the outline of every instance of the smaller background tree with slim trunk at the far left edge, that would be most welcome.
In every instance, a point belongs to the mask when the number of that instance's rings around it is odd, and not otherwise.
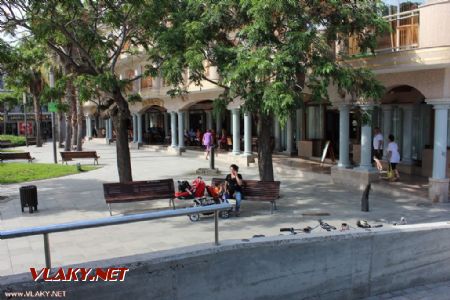
[[[0,51],[3,54],[0,64],[2,71],[6,73],[6,85],[16,93],[27,90],[31,93],[36,124],[36,147],[42,147],[41,95],[46,85],[45,48],[33,39],[22,39],[16,47],[2,44]]]

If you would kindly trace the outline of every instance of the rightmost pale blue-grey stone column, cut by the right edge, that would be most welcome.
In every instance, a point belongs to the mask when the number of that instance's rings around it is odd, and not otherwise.
[[[447,178],[447,118],[450,99],[427,100],[434,109],[433,173],[429,197],[433,202],[448,202]]]

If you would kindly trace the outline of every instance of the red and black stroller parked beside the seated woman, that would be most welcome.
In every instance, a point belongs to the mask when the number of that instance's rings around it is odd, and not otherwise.
[[[193,200],[192,207],[222,203],[219,195],[215,193],[212,187],[207,186],[200,176],[192,182],[192,186],[187,181],[178,181],[178,192],[175,193],[175,198],[179,200]],[[213,214],[212,212],[202,213],[204,216]],[[229,217],[229,212],[221,211],[219,216],[226,219]],[[191,214],[188,217],[192,222],[200,220],[200,214]]]

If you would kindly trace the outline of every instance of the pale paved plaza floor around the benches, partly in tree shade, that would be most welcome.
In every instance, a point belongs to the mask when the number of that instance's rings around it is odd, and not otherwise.
[[[118,181],[115,146],[105,145],[104,140],[100,139],[87,142],[84,146],[86,150],[97,150],[101,168],[61,178],[0,186],[0,195],[7,196],[0,200],[0,230],[108,217],[102,183]],[[36,163],[52,162],[51,144],[47,143],[41,149],[32,146],[28,150],[36,157]],[[221,177],[225,176],[229,166],[229,162],[221,159],[224,155],[219,154],[216,162],[216,167],[222,171]],[[175,156],[152,149],[131,150],[131,157],[134,180],[173,178],[191,181],[196,177],[197,168],[208,167],[203,155],[194,151]],[[280,160],[276,159],[277,162]],[[81,160],[82,164],[92,162]],[[391,193],[389,189],[392,187],[386,187],[387,191],[380,190],[386,185],[374,188],[370,194],[371,211],[361,212],[361,192],[331,184],[327,172],[320,170],[315,167],[301,173],[293,163],[290,166],[277,163],[275,177],[282,182],[278,210],[271,215],[269,203],[244,201],[241,217],[220,220],[220,239],[244,239],[256,234],[278,235],[280,227],[315,226],[318,218],[336,227],[342,222],[355,227],[358,219],[383,223],[385,227],[393,226],[392,223],[398,222],[401,217],[405,217],[408,224],[448,220],[450,204],[431,204],[420,194]],[[240,173],[244,179],[258,178],[255,165],[241,166]],[[210,178],[204,179],[210,182]],[[34,214],[29,214],[27,210],[22,213],[20,209],[19,187],[27,184],[38,187],[39,212]],[[180,202],[177,205],[180,206]],[[165,207],[168,207],[168,201],[115,204],[113,213],[132,214]],[[319,217],[321,214],[329,216]],[[50,235],[52,264],[76,264],[212,243],[213,229],[213,219],[210,217],[196,223],[190,222],[187,217],[178,217],[55,233]],[[30,266],[44,266],[42,236],[0,241],[0,276],[28,272]],[[441,285],[448,288],[448,284]]]

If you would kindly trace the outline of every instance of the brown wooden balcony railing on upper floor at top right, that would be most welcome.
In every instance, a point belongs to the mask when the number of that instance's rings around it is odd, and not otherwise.
[[[419,47],[419,9],[401,12],[384,17],[390,24],[390,32],[377,39],[375,52],[395,52]],[[361,53],[356,37],[348,39],[347,55],[355,56]]]

